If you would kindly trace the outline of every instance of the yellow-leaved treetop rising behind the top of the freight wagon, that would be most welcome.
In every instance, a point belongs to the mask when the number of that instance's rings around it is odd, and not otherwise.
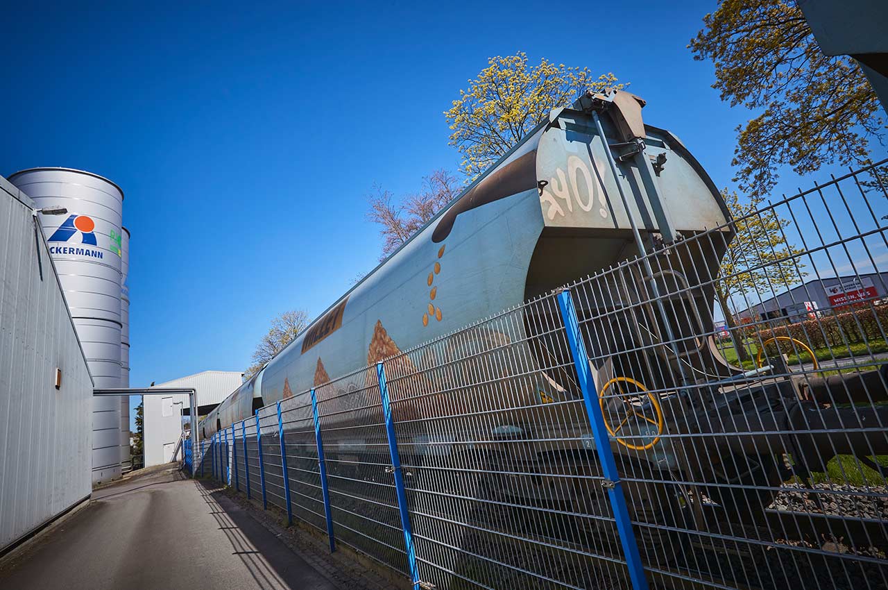
[[[463,155],[463,171],[476,178],[509,148],[549,116],[553,108],[574,102],[580,92],[601,92],[615,84],[616,76],[595,77],[589,68],[566,68],[540,60],[536,66],[524,52],[488,59],[469,88],[445,111],[450,145]]]

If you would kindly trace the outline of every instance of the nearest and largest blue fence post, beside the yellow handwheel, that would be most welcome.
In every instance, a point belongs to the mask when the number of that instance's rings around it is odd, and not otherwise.
[[[629,568],[629,576],[634,590],[647,590],[647,578],[645,566],[638,554],[638,543],[635,540],[635,532],[632,530],[632,522],[629,518],[629,510],[626,507],[626,497],[623,495],[620,473],[616,468],[614,451],[610,448],[610,439],[605,427],[605,418],[601,413],[599,392],[595,388],[595,379],[589,366],[589,356],[586,355],[586,345],[583,343],[583,335],[580,332],[580,321],[576,316],[574,299],[570,291],[564,290],[558,294],[558,303],[561,310],[561,319],[564,321],[567,331],[567,343],[570,345],[571,355],[574,356],[576,366],[577,383],[583,392],[583,402],[586,404],[586,414],[589,425],[592,428],[592,436],[595,439],[595,449],[598,450],[599,461],[604,476],[607,478],[607,496],[610,498],[611,508],[614,510],[616,529],[620,534],[622,552],[626,557],[626,566]]]

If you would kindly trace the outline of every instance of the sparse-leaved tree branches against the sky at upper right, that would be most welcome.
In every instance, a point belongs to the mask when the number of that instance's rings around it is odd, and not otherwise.
[[[776,184],[788,163],[805,174],[829,163],[868,162],[882,143],[876,92],[856,61],[821,52],[795,2],[721,0],[688,47],[712,60],[721,99],[760,114],[737,127],[734,178],[750,195]]]

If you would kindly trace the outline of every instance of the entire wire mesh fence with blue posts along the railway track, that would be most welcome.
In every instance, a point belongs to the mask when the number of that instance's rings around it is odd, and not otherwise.
[[[884,170],[263,408],[197,469],[416,587],[885,588]]]

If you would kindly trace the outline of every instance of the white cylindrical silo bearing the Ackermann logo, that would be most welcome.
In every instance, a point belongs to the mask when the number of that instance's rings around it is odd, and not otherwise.
[[[40,214],[77,336],[95,387],[120,387],[121,221],[123,191],[91,172],[33,168],[9,177],[38,209],[65,207],[63,215]],[[121,474],[120,399],[92,403],[92,482]]]

